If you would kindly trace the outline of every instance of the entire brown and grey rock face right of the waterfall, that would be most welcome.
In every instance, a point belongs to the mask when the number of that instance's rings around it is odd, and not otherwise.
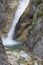
[[[43,58],[43,0],[30,0],[16,27],[16,38]]]

